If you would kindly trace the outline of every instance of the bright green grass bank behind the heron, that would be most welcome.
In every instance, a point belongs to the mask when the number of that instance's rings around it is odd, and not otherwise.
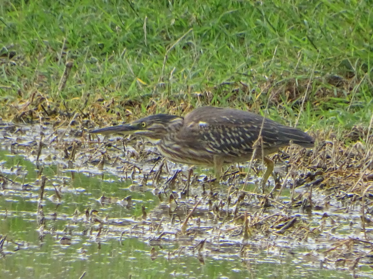
[[[367,127],[369,2],[4,0],[0,117],[14,117],[33,97],[42,116],[83,115],[99,104],[119,121],[126,109],[178,113],[179,105],[209,104],[268,109],[287,124],[301,112],[298,125],[311,130]],[[58,90],[66,61],[73,68]]]

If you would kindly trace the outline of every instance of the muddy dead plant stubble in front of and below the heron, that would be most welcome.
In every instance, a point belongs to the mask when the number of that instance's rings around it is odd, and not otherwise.
[[[262,194],[257,188],[260,165],[249,171],[250,190],[242,190],[247,171],[242,166],[230,167],[224,182],[214,188],[210,175],[201,174],[204,170],[180,169],[163,161],[150,145],[134,139],[91,138],[87,127],[93,124],[75,119],[53,127],[16,124],[0,129],[2,148],[22,154],[38,170],[35,181],[24,183],[27,173],[22,166],[6,169],[1,163],[0,193],[39,193],[41,238],[56,234],[46,215],[62,218],[48,209],[45,199],[63,203],[64,193],[76,191],[68,186],[69,179],[52,186],[55,178],[45,176],[44,168],[58,164],[72,171],[70,179],[75,171],[103,176],[110,173],[132,181],[128,188],[131,192],[150,191],[159,201],[155,208],[142,205],[141,216],[121,218],[101,209],[112,205],[131,209],[136,206],[131,196],[110,193],[97,197],[96,208],[68,217],[74,224],[83,225],[92,241],[135,235],[148,241],[152,259],[164,253],[170,260],[188,254],[203,262],[210,253],[239,253],[245,265],[256,247],[273,257],[288,251],[304,263],[348,269],[355,275],[360,274],[359,267],[372,265],[373,156],[369,132],[351,131],[360,132],[354,141],[350,134],[337,138],[333,132],[318,132],[314,134],[317,143],[313,150],[293,146],[276,154],[280,171]],[[81,232],[70,229],[59,235],[61,245],[70,245]],[[5,236],[2,240],[3,256],[23,245],[12,245],[20,241],[9,242]],[[180,247],[174,251],[160,248],[175,242]]]

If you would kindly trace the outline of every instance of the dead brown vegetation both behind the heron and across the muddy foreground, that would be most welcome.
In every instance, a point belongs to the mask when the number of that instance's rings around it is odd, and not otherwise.
[[[71,64],[66,64],[59,92],[66,86],[70,69]],[[203,263],[210,253],[239,253],[246,268],[255,250],[265,250],[272,258],[286,251],[296,254],[304,263],[347,269],[357,276],[360,267],[373,264],[370,256],[373,251],[372,120],[369,125],[355,125],[342,133],[332,128],[311,129],[316,138],[313,150],[289,147],[274,155],[278,171],[265,194],[259,193],[257,187],[259,164],[248,174],[242,166],[229,167],[224,182],[215,189],[211,176],[201,174],[204,170],[180,168],[164,161],[153,147],[141,141],[119,137],[102,140],[87,133],[97,125],[135,119],[143,108],[147,114],[162,107],[163,112],[184,115],[193,109],[186,96],[199,105],[211,105],[214,96],[223,93],[229,95],[225,100],[228,103],[240,103],[255,112],[268,108],[280,111],[284,104],[302,109],[305,101],[328,109],[330,100],[342,102],[361,83],[355,75],[275,80],[279,77],[270,77],[254,87],[243,81],[226,82],[198,91],[189,88],[188,92],[174,94],[172,98],[150,96],[145,107],[143,100],[136,99],[98,98],[88,102],[87,96],[84,102],[56,103],[41,90],[34,90],[26,99],[22,99],[20,92],[19,100],[2,100],[6,104],[2,114],[13,123],[0,127],[2,148],[32,161],[38,176],[35,181],[25,183],[27,171],[22,166],[7,169],[1,163],[0,193],[4,196],[34,193],[38,199],[40,238],[52,234],[59,237],[61,245],[71,245],[79,241],[82,233],[72,229],[52,231],[48,218],[62,217],[51,212],[44,201],[63,203],[64,193],[77,189],[68,186],[69,179],[56,181],[55,177],[47,177],[44,168],[60,165],[71,171],[71,180],[75,171],[102,177],[110,173],[131,181],[128,188],[131,192],[152,192],[159,205],[150,209],[141,205],[141,216],[110,216],[101,209],[118,205],[131,210],[138,205],[131,195],[103,193],[97,197],[97,209],[75,211],[73,216],[62,218],[84,228],[83,235],[92,241],[101,243],[112,238],[121,241],[135,235],[148,241],[152,260],[165,253],[169,260],[188,254],[197,256]],[[39,81],[45,82],[43,77]],[[315,92],[312,95],[311,88]],[[66,223],[66,230],[68,226]],[[168,251],[161,248],[170,243],[179,243],[179,248]],[[21,240],[9,241],[4,235],[0,239],[1,256],[27,245]]]

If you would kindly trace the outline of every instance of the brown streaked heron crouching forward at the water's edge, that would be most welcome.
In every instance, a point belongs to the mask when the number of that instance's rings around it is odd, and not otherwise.
[[[177,163],[213,166],[219,182],[223,164],[262,159],[267,165],[262,185],[273,171],[266,156],[291,142],[313,147],[314,139],[305,132],[281,125],[256,113],[204,106],[185,117],[156,114],[91,131],[94,134],[135,134],[157,145],[159,152]]]

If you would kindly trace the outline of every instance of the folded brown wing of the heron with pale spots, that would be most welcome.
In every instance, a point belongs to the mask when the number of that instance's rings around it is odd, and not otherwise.
[[[288,145],[290,140],[304,140],[307,134],[270,119],[263,122],[263,117],[255,113],[214,107],[202,107],[188,113],[179,132],[187,145],[232,156],[251,153],[259,135],[262,140],[258,148],[276,150]]]

